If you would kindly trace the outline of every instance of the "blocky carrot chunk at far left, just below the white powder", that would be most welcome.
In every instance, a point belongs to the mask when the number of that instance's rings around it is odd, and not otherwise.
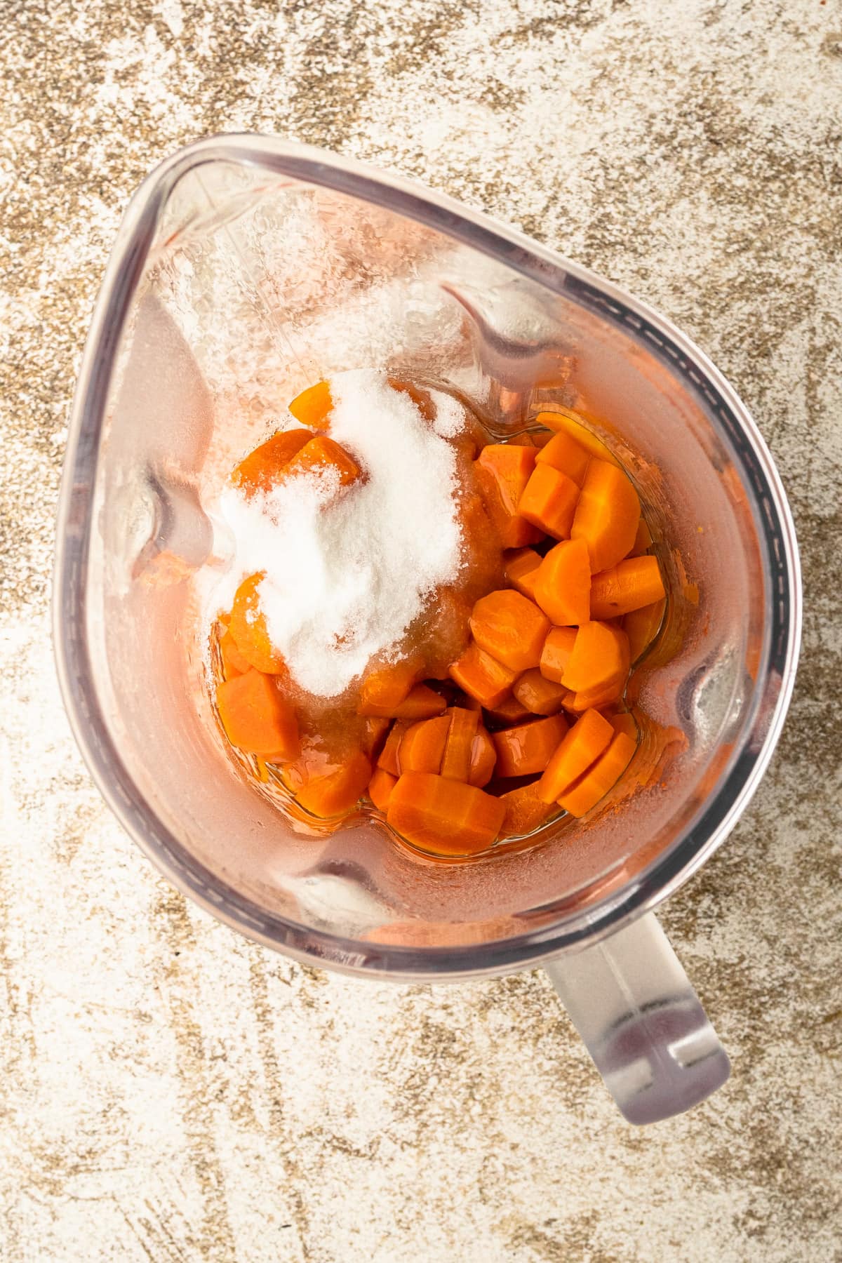
[[[217,685],[216,709],[231,745],[252,754],[295,759],[299,753],[295,712],[271,676],[250,668]]]

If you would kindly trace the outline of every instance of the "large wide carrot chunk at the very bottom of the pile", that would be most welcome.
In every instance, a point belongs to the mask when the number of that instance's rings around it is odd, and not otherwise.
[[[505,807],[462,781],[405,772],[391,791],[386,822],[434,855],[475,855],[495,841]]]

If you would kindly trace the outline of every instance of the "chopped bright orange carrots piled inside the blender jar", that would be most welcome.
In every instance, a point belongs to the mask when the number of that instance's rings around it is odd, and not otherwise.
[[[290,410],[311,428],[274,436],[237,466],[246,495],[314,462],[341,485],[364,476],[314,433],[331,410],[326,383]],[[259,608],[261,576],[241,584],[218,642],[217,711],[231,744],[278,764],[307,812],[338,825],[371,803],[413,846],[466,856],[562,811],[587,815],[629,767],[637,739],[624,696],[663,620],[659,562],[635,486],[607,450],[566,414],[537,424],[543,446],[489,443],[473,464],[506,586],[473,605],[449,679],[422,678],[409,658],[365,676],[365,735],[342,760],[300,738]]]

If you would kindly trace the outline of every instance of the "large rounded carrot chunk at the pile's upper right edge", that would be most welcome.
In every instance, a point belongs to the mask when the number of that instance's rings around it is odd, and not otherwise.
[[[640,499],[616,465],[591,461],[573,514],[572,539],[583,539],[591,570],[616,566],[631,549],[640,522]]]

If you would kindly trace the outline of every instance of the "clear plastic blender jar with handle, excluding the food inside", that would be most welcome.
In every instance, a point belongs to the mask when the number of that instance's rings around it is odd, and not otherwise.
[[[684,626],[640,701],[687,749],[622,810],[436,864],[369,821],[295,834],[226,749],[197,589],[230,542],[206,508],[300,389],[361,366],[453,390],[500,436],[576,408],[635,479]],[[769,760],[795,669],[798,557],[751,418],[668,321],[448,198],[269,138],[202,141],[149,177],[121,226],[58,538],[76,736],[179,889],[265,945],[364,976],[548,962],[631,1122],[727,1077],[650,909],[722,841]]]

